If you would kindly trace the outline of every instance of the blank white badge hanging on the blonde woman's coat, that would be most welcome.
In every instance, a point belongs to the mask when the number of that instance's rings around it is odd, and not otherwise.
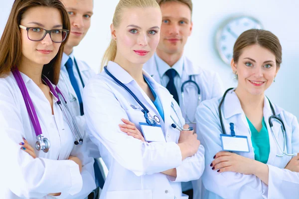
[[[148,123],[139,124],[147,142],[166,142],[161,125],[149,125]]]

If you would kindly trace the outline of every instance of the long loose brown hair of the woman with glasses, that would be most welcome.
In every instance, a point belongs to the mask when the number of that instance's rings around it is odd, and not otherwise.
[[[37,6],[58,9],[61,13],[63,29],[70,29],[68,13],[60,0],[15,0],[0,39],[0,76],[7,74],[14,66],[18,66],[22,57],[21,33],[18,25],[23,14],[29,8]],[[57,55],[48,64],[45,64],[42,70],[42,74],[55,85],[59,80],[60,63],[67,39],[68,36],[61,43]]]

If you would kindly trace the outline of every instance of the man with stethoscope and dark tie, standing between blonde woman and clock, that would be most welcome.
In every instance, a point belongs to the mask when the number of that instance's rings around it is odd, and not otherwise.
[[[196,132],[195,111],[198,104],[203,100],[222,96],[219,78],[214,72],[194,65],[183,53],[193,27],[192,1],[157,2],[162,12],[160,41],[156,53],[144,65],[144,69],[173,95],[180,105],[185,122]],[[181,88],[186,81],[188,83],[183,86],[183,97]],[[182,183],[183,193],[187,194],[189,199],[201,199],[204,194],[201,179],[192,181],[192,184]]]

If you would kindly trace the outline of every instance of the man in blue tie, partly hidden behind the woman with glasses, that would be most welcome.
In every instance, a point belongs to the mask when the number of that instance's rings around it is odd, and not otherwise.
[[[80,132],[85,131],[86,121],[83,110],[83,88],[88,80],[95,75],[94,71],[84,62],[74,57],[75,46],[78,46],[90,28],[91,16],[93,15],[93,0],[61,0],[69,13],[71,29],[69,39],[64,47],[61,60],[61,71],[58,82],[59,88],[66,93],[73,115],[77,119]],[[88,135],[88,134],[86,134]],[[89,138],[84,140],[88,143],[90,156],[95,158],[95,176],[97,187],[103,188],[104,175],[98,158],[98,148]],[[84,185],[83,185],[84,186]],[[99,188],[93,191],[88,199],[99,198]]]

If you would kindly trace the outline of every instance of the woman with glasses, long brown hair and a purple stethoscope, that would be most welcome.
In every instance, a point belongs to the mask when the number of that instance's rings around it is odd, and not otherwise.
[[[95,188],[93,159],[84,142],[75,146],[84,137],[56,87],[69,29],[59,0],[12,5],[0,40],[0,198],[85,198]]]

